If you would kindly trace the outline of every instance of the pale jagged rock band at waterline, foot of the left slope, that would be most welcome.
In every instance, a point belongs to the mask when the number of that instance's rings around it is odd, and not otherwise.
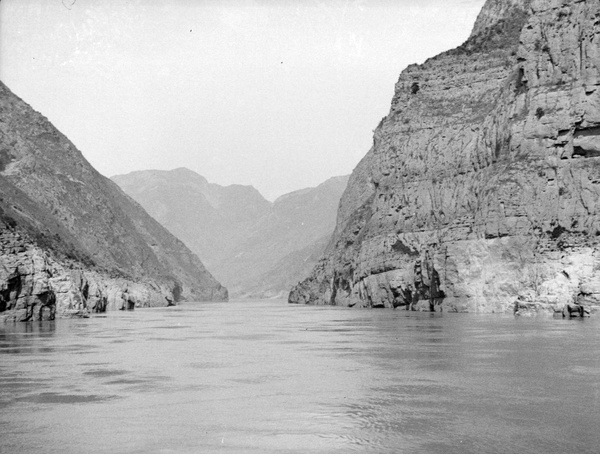
[[[166,306],[173,288],[64,264],[23,235],[0,233],[0,322],[89,317],[106,310]]]

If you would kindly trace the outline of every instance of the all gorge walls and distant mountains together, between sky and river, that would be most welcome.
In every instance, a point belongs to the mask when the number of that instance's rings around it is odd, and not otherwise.
[[[290,303],[595,309],[599,40],[597,2],[487,0],[464,44],[400,74],[349,179],[273,203],[183,168],[110,181],[1,85],[1,317],[226,300],[218,281],[274,297],[300,279]]]

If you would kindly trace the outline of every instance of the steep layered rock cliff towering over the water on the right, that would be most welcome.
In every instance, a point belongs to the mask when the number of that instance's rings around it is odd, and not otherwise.
[[[293,303],[600,302],[600,3],[486,2],[396,84]]]

